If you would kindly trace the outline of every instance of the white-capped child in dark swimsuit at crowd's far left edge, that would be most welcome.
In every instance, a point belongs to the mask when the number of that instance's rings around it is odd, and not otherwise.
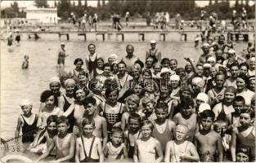
[[[20,128],[22,130],[22,143],[28,143],[34,141],[34,134],[36,134],[38,116],[31,112],[33,108],[32,102],[29,99],[24,99],[20,108],[23,114],[20,114],[18,118],[18,123],[16,126],[15,138],[20,136]]]

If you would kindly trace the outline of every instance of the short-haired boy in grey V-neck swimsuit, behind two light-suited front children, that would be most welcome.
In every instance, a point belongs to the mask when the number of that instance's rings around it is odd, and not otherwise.
[[[155,106],[156,120],[153,121],[153,137],[158,139],[161,143],[163,152],[165,151],[166,143],[173,139],[173,132],[176,128],[176,124],[166,119],[168,116],[168,104],[159,103]]]

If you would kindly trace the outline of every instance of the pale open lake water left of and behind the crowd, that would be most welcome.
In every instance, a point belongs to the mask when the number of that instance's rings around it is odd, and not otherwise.
[[[21,113],[20,100],[31,99],[33,112],[38,112],[39,97],[43,90],[48,89],[51,77],[57,75],[56,62],[60,41],[43,37],[38,41],[27,40],[24,36],[20,46],[14,51],[7,51],[7,42],[1,41],[1,138],[14,137],[17,118]],[[56,37],[56,35],[55,35]],[[88,55],[88,44],[94,43],[97,52],[106,60],[115,53],[119,59],[126,55],[125,47],[132,44],[135,48],[134,55],[145,60],[146,50],[150,48],[149,42],[84,42],[71,40],[66,42],[65,69],[74,68],[74,59],[85,59]],[[236,51],[246,48],[246,42],[236,42]],[[178,67],[186,64],[184,57],[197,60],[202,53],[200,48],[194,47],[194,42],[158,42],[157,48],[162,51],[162,56],[177,59]],[[29,69],[21,69],[24,55],[29,55]],[[21,131],[20,131],[21,132]]]

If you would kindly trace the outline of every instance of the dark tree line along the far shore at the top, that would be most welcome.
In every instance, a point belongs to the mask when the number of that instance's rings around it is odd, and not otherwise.
[[[49,7],[47,0],[34,1],[36,7]],[[199,20],[200,11],[204,10],[207,13],[215,12],[218,19],[231,19],[233,10],[238,13],[245,7],[248,19],[255,18],[255,3],[249,6],[249,0],[236,0],[235,5],[231,7],[230,0],[218,1],[209,0],[209,5],[206,7],[197,7],[195,0],[190,1],[173,1],[173,0],[97,0],[97,7],[88,6],[88,0],[78,0],[77,2],[71,0],[54,1],[54,7],[58,9],[58,16],[62,20],[67,20],[71,13],[82,17],[85,13],[93,15],[97,13],[100,20],[109,20],[110,15],[119,13],[124,16],[128,11],[133,18],[145,18],[148,13],[155,15],[156,12],[166,12],[174,17],[177,13],[182,15],[184,20]],[[11,7],[2,9],[1,17],[10,17],[10,13],[16,13],[15,17],[25,17],[25,11],[20,10],[17,2],[11,3]],[[12,15],[13,16],[13,15]]]

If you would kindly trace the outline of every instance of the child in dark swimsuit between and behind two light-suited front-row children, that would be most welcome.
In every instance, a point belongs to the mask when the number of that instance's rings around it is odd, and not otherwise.
[[[129,158],[133,158],[135,142],[141,138],[140,124],[141,117],[137,113],[130,114],[128,117],[128,130],[124,132],[124,143],[127,145]]]

